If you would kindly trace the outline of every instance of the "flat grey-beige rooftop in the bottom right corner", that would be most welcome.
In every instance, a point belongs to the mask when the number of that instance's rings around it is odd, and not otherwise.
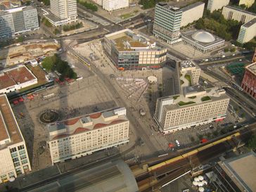
[[[236,158],[225,160],[219,163],[229,177],[241,188],[246,191],[256,191],[255,173],[256,173],[256,154],[251,152],[240,155]]]

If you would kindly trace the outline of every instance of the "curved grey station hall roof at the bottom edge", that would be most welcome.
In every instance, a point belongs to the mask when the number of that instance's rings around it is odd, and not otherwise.
[[[123,160],[115,160],[27,190],[27,192],[43,191],[136,192],[139,188],[128,165]]]

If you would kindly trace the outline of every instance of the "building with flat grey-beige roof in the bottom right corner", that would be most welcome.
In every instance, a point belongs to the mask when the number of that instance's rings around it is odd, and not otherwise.
[[[222,192],[256,191],[256,155],[253,152],[218,162],[206,173],[210,184]]]

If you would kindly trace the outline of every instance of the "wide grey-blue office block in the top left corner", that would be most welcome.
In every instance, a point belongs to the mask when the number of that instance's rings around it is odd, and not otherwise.
[[[0,37],[36,30],[39,27],[37,9],[18,7],[0,11]]]

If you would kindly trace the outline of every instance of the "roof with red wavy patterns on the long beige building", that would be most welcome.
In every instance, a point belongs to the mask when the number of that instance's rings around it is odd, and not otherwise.
[[[94,129],[101,129],[110,124],[118,124],[120,122],[128,122],[125,108],[83,115],[69,120],[48,124],[47,126],[51,141]]]

